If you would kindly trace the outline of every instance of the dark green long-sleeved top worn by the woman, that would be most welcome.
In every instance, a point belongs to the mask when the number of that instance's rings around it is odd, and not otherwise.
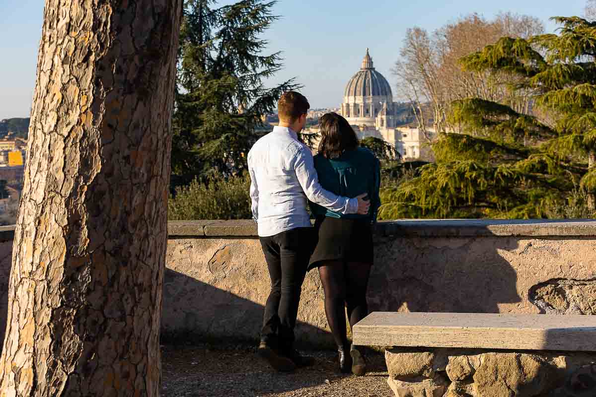
[[[315,216],[349,219],[368,218],[372,223],[377,221],[378,208],[381,206],[381,200],[378,196],[381,185],[381,165],[373,152],[366,148],[356,148],[344,152],[342,157],[334,160],[328,160],[318,154],[315,156],[315,169],[323,189],[349,198],[368,193],[371,202],[368,215],[343,215],[311,202],[311,210]]]

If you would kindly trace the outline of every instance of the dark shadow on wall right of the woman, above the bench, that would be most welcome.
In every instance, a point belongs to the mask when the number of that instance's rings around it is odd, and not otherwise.
[[[498,313],[521,302],[516,270],[500,254],[518,239],[482,238],[377,239],[370,310]]]

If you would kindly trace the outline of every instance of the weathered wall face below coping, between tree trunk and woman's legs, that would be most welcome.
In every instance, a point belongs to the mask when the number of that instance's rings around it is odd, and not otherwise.
[[[163,293],[166,340],[257,339],[269,295],[269,273],[254,238],[169,240]],[[331,343],[318,274],[302,287],[297,334]]]

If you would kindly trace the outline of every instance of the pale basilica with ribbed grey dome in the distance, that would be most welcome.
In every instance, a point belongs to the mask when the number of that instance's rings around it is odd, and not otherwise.
[[[378,137],[395,146],[402,158],[419,158],[423,135],[418,129],[398,127],[397,110],[391,85],[375,70],[367,49],[360,70],[346,85],[340,112],[360,139]]]

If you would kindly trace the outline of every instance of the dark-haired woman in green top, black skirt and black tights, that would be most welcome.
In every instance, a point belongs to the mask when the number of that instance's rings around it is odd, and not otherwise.
[[[323,115],[320,127],[321,142],[315,168],[321,186],[347,197],[367,193],[371,201],[368,215],[342,215],[311,203],[318,243],[309,270],[319,268],[325,292],[325,314],[337,343],[340,370],[343,373],[351,370],[362,376],[366,364],[362,354],[347,340],[344,304],[353,330],[368,314],[366,294],[373,265],[371,226],[377,220],[380,206],[380,164],[371,151],[358,146],[356,133],[339,114]]]

